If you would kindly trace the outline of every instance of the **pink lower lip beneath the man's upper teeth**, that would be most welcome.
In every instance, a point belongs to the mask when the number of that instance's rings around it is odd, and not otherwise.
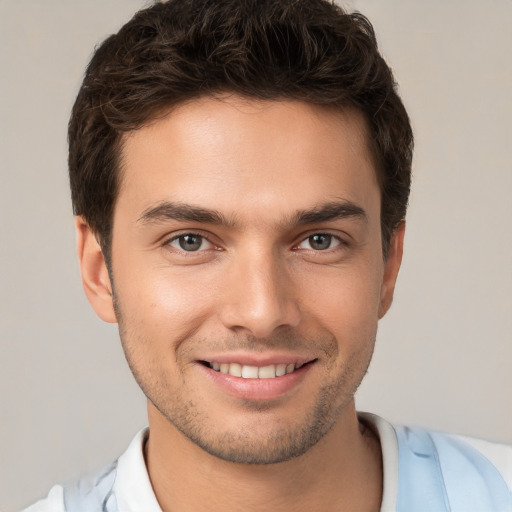
[[[230,395],[244,400],[272,400],[279,398],[298,386],[313,363],[308,363],[292,373],[273,379],[244,379],[233,377],[200,365],[206,375]]]

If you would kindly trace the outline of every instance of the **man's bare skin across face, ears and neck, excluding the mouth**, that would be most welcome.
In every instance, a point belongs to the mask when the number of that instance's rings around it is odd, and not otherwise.
[[[384,261],[362,116],[202,98],[128,134],[122,156],[113,282],[82,218],[78,253],[87,296],[119,323],[148,397],[146,462],[162,509],[378,510],[380,449],[353,397],[404,226]],[[185,219],[183,205],[215,217]],[[326,205],[339,215],[320,218]],[[197,250],[180,245],[187,234]],[[212,380],[201,361],[222,357],[308,364],[285,392],[254,398]]]

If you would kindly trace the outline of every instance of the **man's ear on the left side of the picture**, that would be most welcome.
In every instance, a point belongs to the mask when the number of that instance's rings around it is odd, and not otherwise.
[[[82,286],[96,314],[105,322],[116,323],[112,285],[96,236],[83,217],[76,217],[77,253]]]

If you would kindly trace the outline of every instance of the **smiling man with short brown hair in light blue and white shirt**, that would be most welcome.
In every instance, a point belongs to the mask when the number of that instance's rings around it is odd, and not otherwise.
[[[69,129],[84,289],[149,429],[28,510],[512,510],[512,448],[357,414],[412,132],[322,0],[171,0],[97,50]]]

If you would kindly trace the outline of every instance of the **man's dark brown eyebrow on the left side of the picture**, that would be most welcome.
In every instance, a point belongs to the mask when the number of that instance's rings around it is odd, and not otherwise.
[[[228,227],[234,226],[233,220],[226,218],[217,210],[168,201],[163,201],[156,206],[144,210],[142,215],[137,219],[137,222],[141,224],[153,224],[167,220],[200,222]]]

